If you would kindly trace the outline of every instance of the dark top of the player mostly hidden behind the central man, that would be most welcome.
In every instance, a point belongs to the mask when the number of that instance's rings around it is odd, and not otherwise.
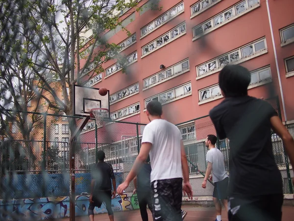
[[[151,165],[143,164],[140,171],[137,174],[137,190],[138,192],[151,191],[150,184]]]

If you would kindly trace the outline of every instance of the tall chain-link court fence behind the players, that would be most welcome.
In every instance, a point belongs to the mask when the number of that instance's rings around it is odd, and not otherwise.
[[[27,115],[30,119],[30,115],[38,114]],[[8,121],[6,129],[1,131],[1,199],[69,196],[69,140],[80,118],[39,115],[40,120],[30,131],[24,131],[18,121]],[[113,166],[117,186],[125,179],[138,155],[145,125],[107,121],[105,126],[97,128],[94,119],[87,123],[74,146],[76,195],[90,193],[90,171],[91,166],[97,163],[98,150],[105,152],[105,161]],[[205,138],[216,134],[213,123],[209,116],[203,116],[177,126],[184,141],[194,194],[209,196],[213,185],[209,183],[206,189],[202,189],[201,183],[207,166]],[[288,163],[281,139],[274,133],[272,144],[276,164],[284,179],[284,193],[293,193],[290,186],[292,166]],[[229,141],[218,139],[217,147],[224,155],[228,170]],[[131,193],[133,188],[131,183],[126,192]]]

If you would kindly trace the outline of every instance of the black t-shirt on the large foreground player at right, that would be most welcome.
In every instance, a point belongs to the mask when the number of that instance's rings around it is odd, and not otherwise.
[[[229,196],[282,194],[271,143],[270,118],[277,112],[271,105],[250,96],[226,98],[209,115],[219,138],[230,140]]]

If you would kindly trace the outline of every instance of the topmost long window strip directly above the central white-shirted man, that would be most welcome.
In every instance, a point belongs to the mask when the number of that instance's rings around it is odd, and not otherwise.
[[[170,16],[170,12],[173,9],[177,8],[178,6],[180,6],[181,4],[183,5],[183,9],[181,11],[177,12],[174,16]],[[180,15],[184,11],[185,11],[184,1],[181,1],[181,2],[177,3],[176,5],[172,6],[171,9],[167,10],[166,12],[164,12],[163,14],[161,14],[160,16],[158,16],[157,18],[155,18],[153,21],[151,21],[150,23],[148,23],[143,28],[140,28],[140,39],[146,37],[148,34],[150,34],[151,32],[153,32],[157,28],[160,28],[161,26],[167,24],[169,21],[171,21],[173,18],[175,18],[176,16]],[[165,16],[167,16],[167,19],[164,20],[164,22],[162,22],[163,21],[163,18]],[[159,19],[161,20],[161,23],[156,26],[156,21],[159,20]],[[153,25],[153,28],[148,31],[148,27],[151,26],[151,25]],[[146,34],[143,34],[143,30],[146,29],[146,28],[147,28]]]

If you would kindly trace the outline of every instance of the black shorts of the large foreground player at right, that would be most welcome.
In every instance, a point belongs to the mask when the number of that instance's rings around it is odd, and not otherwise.
[[[283,194],[229,197],[229,221],[281,221]]]

